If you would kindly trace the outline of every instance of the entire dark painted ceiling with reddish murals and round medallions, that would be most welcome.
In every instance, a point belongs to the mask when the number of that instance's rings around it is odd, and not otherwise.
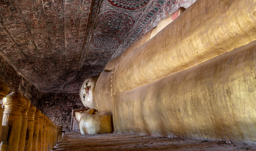
[[[78,93],[165,1],[0,0],[0,54],[40,92]]]

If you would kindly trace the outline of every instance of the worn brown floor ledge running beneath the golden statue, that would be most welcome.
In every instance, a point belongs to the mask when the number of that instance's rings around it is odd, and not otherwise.
[[[225,141],[204,141],[195,139],[169,138],[164,136],[131,133],[106,133],[81,135],[66,131],[53,151],[114,151],[114,150],[213,150],[241,151],[256,150],[256,144]]]

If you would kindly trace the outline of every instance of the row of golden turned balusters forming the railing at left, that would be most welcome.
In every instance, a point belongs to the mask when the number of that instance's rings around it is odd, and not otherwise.
[[[19,92],[10,88],[0,78],[1,151],[49,151],[62,137],[62,127],[53,124]],[[5,96],[7,95],[7,96]]]

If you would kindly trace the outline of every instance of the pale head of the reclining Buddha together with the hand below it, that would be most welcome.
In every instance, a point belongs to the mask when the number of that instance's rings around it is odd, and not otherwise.
[[[89,110],[75,112],[76,120],[79,121],[81,134],[98,134],[112,132],[112,115],[106,112],[96,111],[95,84],[98,76],[86,79],[80,91],[80,97],[84,107]]]

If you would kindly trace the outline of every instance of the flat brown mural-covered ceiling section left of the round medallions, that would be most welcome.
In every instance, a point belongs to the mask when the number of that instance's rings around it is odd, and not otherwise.
[[[0,1],[0,54],[39,91],[58,93],[77,73],[98,6],[98,0]]]

